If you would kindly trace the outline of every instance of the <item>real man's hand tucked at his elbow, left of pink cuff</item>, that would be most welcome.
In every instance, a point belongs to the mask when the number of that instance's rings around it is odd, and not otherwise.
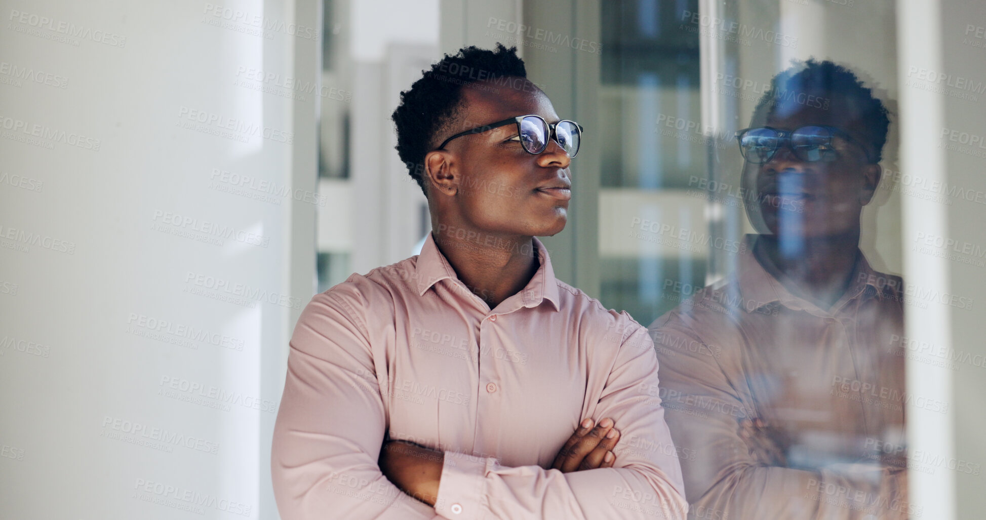
[[[380,471],[405,493],[434,506],[442,482],[445,453],[405,441],[387,441],[380,450]]]

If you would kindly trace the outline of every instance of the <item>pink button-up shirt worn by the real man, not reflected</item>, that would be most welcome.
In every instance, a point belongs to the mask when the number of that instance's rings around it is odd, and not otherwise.
[[[539,268],[492,310],[431,235],[312,299],[274,430],[285,520],[684,516],[647,330],[555,279],[533,244]],[[586,417],[615,421],[614,467],[546,469]],[[381,473],[386,435],[445,452],[434,508]]]

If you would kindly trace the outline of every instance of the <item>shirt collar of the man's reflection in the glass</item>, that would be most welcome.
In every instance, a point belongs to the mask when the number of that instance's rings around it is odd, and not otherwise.
[[[765,305],[780,303],[793,310],[811,310],[815,313],[828,314],[816,305],[804,298],[791,294],[790,291],[756,260],[753,255],[753,247],[758,235],[750,234],[743,237],[745,253],[741,253],[737,262],[737,285],[744,300],[743,309],[751,313]],[[743,251],[740,249],[740,251]],[[895,276],[881,274],[870,266],[870,262],[862,252],[857,250],[856,265],[853,267],[852,279],[845,294],[832,306],[832,311],[842,307],[847,301],[858,297],[867,290],[867,286],[874,289],[870,294],[879,298],[892,297],[892,290],[896,287]],[[812,313],[812,314],[815,314]]]

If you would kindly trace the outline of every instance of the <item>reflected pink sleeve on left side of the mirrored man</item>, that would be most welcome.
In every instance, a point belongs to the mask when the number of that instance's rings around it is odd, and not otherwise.
[[[687,326],[667,322],[659,319],[651,334],[658,344],[671,435],[687,453],[681,469],[695,518],[871,520],[916,514],[907,503],[905,470],[873,464],[817,471],[778,466],[773,441],[743,427],[755,410],[740,397],[742,374],[730,378],[721,350]]]

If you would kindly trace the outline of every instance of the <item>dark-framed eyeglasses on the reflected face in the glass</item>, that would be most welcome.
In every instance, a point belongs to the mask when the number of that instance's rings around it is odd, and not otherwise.
[[[822,124],[810,124],[791,131],[778,130],[770,126],[743,128],[736,133],[740,141],[740,154],[752,164],[762,165],[773,159],[781,147],[787,146],[802,161],[830,162],[839,158],[839,152],[832,146],[832,138],[839,137],[859,146],[868,163],[874,162],[870,152],[848,133]]]

